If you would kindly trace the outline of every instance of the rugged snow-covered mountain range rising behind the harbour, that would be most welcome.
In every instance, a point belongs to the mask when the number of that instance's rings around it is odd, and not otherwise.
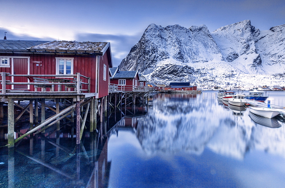
[[[159,83],[280,85],[285,75],[284,28],[260,31],[245,20],[210,33],[205,25],[150,24],[120,68],[138,70]]]

